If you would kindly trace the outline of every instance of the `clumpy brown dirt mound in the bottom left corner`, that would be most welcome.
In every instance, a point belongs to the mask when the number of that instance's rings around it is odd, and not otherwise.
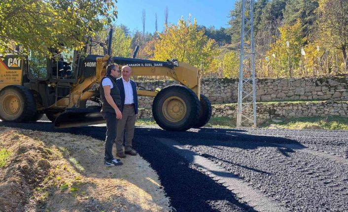
[[[18,130],[1,133],[0,146],[11,152],[7,164],[0,169],[0,211],[24,211],[33,189],[48,173],[50,154],[42,142]]]

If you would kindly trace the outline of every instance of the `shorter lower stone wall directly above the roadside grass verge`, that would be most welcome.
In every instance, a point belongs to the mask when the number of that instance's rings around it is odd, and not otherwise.
[[[237,104],[213,105],[211,117],[237,118]],[[256,104],[257,121],[272,118],[294,118],[308,116],[348,117],[347,101],[274,102]],[[252,115],[252,108],[244,115]],[[151,109],[140,109],[138,118],[152,118]]]

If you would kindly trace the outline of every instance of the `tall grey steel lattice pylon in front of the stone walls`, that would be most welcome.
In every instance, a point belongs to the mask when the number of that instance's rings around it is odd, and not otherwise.
[[[243,126],[242,124],[244,121],[249,121],[253,123],[253,127],[256,127],[253,3],[253,0],[243,0],[242,3],[242,36],[238,86],[237,127]],[[244,76],[248,78],[244,78]],[[247,110],[251,106],[253,108],[252,114],[247,113]]]

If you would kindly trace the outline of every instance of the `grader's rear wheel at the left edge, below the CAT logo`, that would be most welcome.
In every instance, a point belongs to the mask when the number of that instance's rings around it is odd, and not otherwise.
[[[35,114],[35,98],[29,89],[12,85],[0,91],[0,119],[2,121],[29,121]]]

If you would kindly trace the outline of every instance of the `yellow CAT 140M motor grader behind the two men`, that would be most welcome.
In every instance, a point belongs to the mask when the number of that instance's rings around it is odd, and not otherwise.
[[[112,29],[109,32],[112,37]],[[90,40],[89,46],[104,47],[104,56],[83,51],[42,58],[32,53],[26,60],[16,55],[0,56],[0,119],[9,122],[39,120],[43,114],[56,128],[103,123],[100,107],[86,107],[86,101],[101,105],[99,84],[106,65],[128,65],[134,76],[168,76],[178,85],[161,91],[138,90],[153,96],[152,114],[165,130],[184,131],[204,126],[211,116],[209,99],[201,93],[199,70],[186,63],[110,57],[111,40]],[[55,52],[52,50],[52,55]],[[87,55],[87,56],[86,56]]]

